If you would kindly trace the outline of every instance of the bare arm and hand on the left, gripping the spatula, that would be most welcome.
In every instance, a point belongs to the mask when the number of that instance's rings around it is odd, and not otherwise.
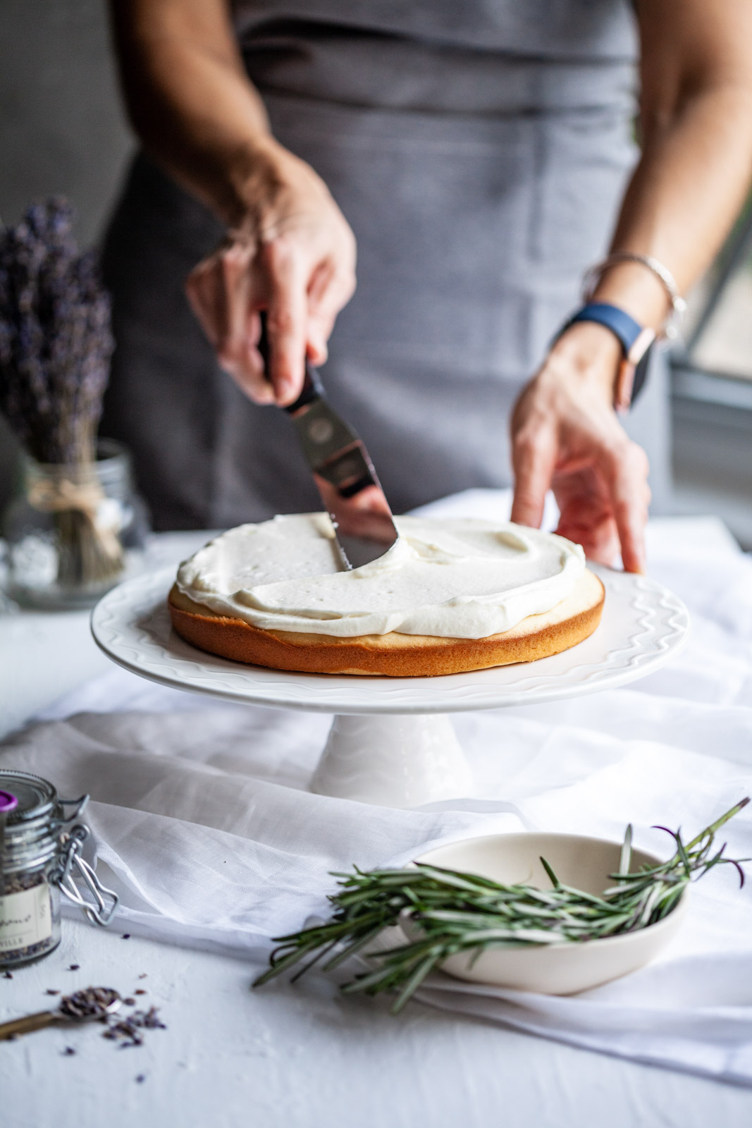
[[[289,403],[326,359],[355,285],[355,243],[324,182],[269,133],[225,0],[112,0],[125,99],[147,150],[232,231],[188,282],[220,363],[262,403]],[[258,310],[268,309],[264,380]]]

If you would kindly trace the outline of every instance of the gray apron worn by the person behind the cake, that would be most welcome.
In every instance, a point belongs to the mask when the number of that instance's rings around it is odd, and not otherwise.
[[[515,397],[604,253],[635,160],[630,9],[267,0],[238,6],[236,25],[275,136],[357,239],[322,376],[395,511],[508,485]],[[319,505],[290,421],[218,369],[184,298],[221,237],[136,158],[105,246],[117,351],[103,431],[133,450],[161,529]],[[654,373],[629,423],[658,495],[663,384]]]

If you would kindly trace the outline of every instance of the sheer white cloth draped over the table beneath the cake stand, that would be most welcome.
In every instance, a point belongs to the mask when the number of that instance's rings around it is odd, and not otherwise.
[[[489,504],[503,506],[505,500],[460,500],[466,511]],[[450,804],[453,810],[392,812],[309,795],[303,788],[326,719],[207,708],[117,670],[48,714],[87,710],[88,715],[48,721],[11,739],[0,763],[39,770],[67,791],[91,791],[97,854],[118,883],[129,931],[183,944],[245,948],[254,962],[269,933],[298,927],[321,910],[328,869],[399,861],[426,843],[512,828],[510,803],[525,822],[546,829],[618,838],[631,820],[638,844],[661,848],[648,830],[652,822],[693,831],[750,790],[752,564],[717,522],[674,520],[651,530],[651,572],[688,601],[693,616],[692,642],[670,668],[592,698],[455,719],[486,814],[462,810],[461,803]],[[732,853],[752,853],[750,831],[749,816],[729,826]],[[688,924],[661,963],[587,997],[485,996],[481,1006],[494,1021],[575,1045],[749,1082],[752,904],[734,888],[732,872],[709,875],[693,893]],[[297,997],[310,1002],[329,989],[315,980]],[[294,993],[273,988],[263,1002],[255,995],[254,1004],[268,1008],[271,999]],[[443,977],[430,1001],[478,1007]],[[338,1014],[360,1023],[364,1006],[381,1030],[387,1020],[380,1004],[351,1001]],[[413,1019],[395,1020],[395,1032],[427,1013],[418,1005],[412,1011]],[[461,1023],[457,1030],[466,1037],[467,1020],[451,1021]],[[550,1043],[547,1051],[536,1050],[541,1063],[550,1052]],[[603,1058],[576,1060],[587,1061],[586,1069],[594,1068],[593,1060],[601,1063],[599,1070],[611,1068]],[[436,1061],[437,1072],[446,1067],[445,1057]],[[478,1068],[493,1066],[486,1059]],[[404,1074],[393,1076],[414,1094]],[[439,1092],[437,1077],[435,1084]],[[729,1092],[713,1090],[722,1091]],[[439,1117],[432,1122],[458,1122],[440,1118],[449,1105],[433,1100],[430,1105]],[[697,1109],[683,1108],[681,1122],[693,1122]],[[480,1108],[470,1111],[476,1119],[468,1122],[487,1122]],[[567,1116],[550,1122],[576,1121]]]

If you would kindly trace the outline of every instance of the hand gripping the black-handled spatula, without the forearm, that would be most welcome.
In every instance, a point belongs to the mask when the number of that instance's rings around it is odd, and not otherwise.
[[[355,238],[313,169],[268,138],[242,188],[247,212],[191,272],[186,293],[221,367],[257,404],[300,395],[355,290]],[[256,347],[267,311],[268,377]]]

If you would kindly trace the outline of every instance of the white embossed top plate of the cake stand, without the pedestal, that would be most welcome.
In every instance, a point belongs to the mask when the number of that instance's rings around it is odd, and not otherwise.
[[[150,632],[144,625],[144,617],[156,620],[157,626],[160,614],[167,620],[166,598],[174,567],[114,588],[94,608],[91,633],[112,661],[150,681],[269,708],[399,714],[542,704],[613,689],[642,678],[664,666],[687,641],[689,614],[667,588],[646,576],[592,563],[589,566],[607,588],[603,620],[591,638],[538,662],[441,678],[360,678],[245,667],[196,650],[171,627],[167,640],[160,640],[156,627]],[[626,632],[623,644],[614,644],[600,660],[587,660],[603,632],[613,631],[611,620],[619,615],[626,616],[632,633]],[[512,680],[514,673],[519,677]]]

